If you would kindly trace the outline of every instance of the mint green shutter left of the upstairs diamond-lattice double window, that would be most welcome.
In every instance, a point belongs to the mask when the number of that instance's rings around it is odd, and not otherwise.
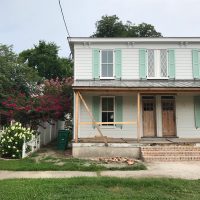
[[[139,76],[140,79],[147,78],[146,49],[139,50]]]

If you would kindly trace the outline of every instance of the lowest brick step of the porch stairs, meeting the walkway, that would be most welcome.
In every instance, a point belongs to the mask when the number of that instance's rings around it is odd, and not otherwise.
[[[152,161],[200,161],[200,156],[145,156],[143,157],[145,162]]]

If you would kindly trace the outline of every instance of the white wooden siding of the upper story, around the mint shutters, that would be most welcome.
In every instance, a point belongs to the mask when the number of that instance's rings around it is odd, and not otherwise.
[[[139,49],[175,49],[176,79],[193,79],[192,48],[200,45],[180,46],[178,44],[91,44],[75,45],[75,79],[92,79],[92,49],[122,49],[122,79],[139,78]]]

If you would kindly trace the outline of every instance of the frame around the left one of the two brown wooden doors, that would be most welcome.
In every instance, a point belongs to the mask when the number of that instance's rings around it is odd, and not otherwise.
[[[144,135],[144,101],[143,98],[144,97],[153,97],[152,98],[152,102],[154,103],[154,110],[153,110],[153,114],[154,114],[154,136],[145,136]],[[143,129],[143,138],[155,138],[157,137],[157,115],[156,115],[156,96],[155,95],[143,95],[142,96],[142,129]]]

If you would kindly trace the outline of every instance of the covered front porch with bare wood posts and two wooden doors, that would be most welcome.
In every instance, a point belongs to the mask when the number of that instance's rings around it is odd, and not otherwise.
[[[170,144],[182,143],[184,138],[196,141],[200,132],[195,127],[194,96],[200,95],[199,87],[200,81],[193,80],[76,81],[74,142]],[[121,105],[116,103],[119,95]],[[95,106],[93,97],[101,98],[95,99]],[[112,118],[103,119],[104,97],[114,98],[113,107],[120,110],[121,116],[111,109],[108,112],[113,112]],[[97,106],[100,108],[94,113]]]

